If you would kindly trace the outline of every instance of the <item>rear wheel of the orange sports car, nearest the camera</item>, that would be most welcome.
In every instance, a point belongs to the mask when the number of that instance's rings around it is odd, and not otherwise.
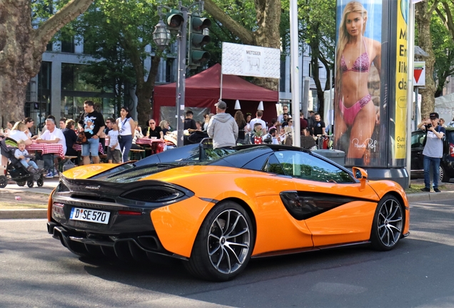
[[[246,210],[236,202],[221,202],[203,221],[191,257],[184,265],[201,279],[233,279],[248,264],[253,241],[253,225]]]

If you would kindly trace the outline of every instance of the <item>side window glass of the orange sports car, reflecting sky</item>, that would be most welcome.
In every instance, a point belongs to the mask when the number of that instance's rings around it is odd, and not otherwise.
[[[283,172],[294,178],[318,182],[353,183],[349,173],[309,153],[283,150],[276,152],[275,155]]]

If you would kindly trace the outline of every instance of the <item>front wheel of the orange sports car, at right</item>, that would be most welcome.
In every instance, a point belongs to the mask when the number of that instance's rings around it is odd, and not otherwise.
[[[392,250],[400,240],[403,229],[403,210],[397,198],[385,195],[378,202],[373,216],[370,242],[375,250]]]

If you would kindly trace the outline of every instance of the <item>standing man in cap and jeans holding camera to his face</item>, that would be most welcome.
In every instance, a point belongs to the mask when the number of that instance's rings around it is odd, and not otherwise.
[[[425,145],[423,150],[424,185],[421,190],[430,192],[430,165],[433,167],[433,190],[440,193],[438,189],[438,178],[440,178],[440,158],[443,156],[443,137],[446,134],[445,128],[438,125],[438,113],[430,113],[429,119],[424,119],[418,124],[418,128],[425,130]]]

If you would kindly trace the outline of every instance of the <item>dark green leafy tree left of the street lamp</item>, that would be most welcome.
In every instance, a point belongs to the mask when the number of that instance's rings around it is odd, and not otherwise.
[[[158,23],[156,1],[152,0],[100,0],[74,23],[79,36],[90,44],[98,58],[94,64],[99,71],[89,68],[91,83],[99,87],[115,86],[121,99],[124,87],[131,82],[136,86],[138,122],[148,122],[151,115],[151,96],[161,61],[161,51],[154,46],[153,29]],[[152,57],[151,68],[146,71],[145,61]],[[111,78],[106,78],[110,76]],[[131,83],[130,83],[131,84]]]

